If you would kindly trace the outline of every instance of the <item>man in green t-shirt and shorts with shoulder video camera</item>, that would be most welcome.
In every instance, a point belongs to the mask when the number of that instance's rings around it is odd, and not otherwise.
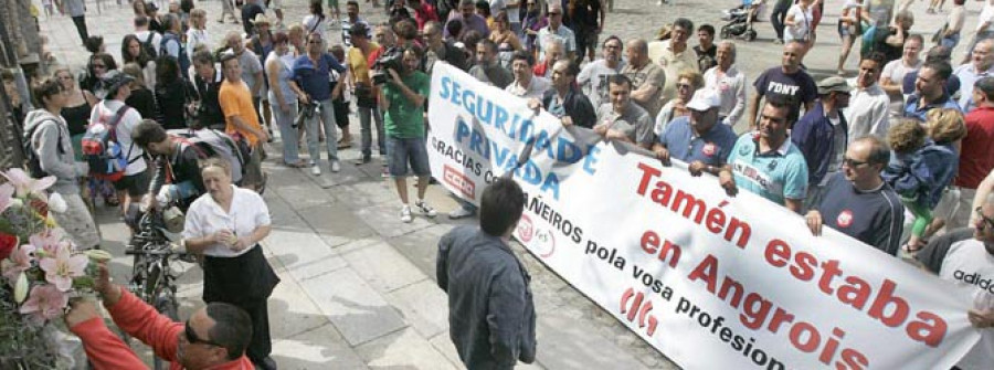
[[[383,127],[387,130],[387,165],[396,183],[403,208],[401,221],[411,222],[411,205],[408,204],[408,163],[417,176],[417,202],[421,213],[434,218],[436,212],[424,202],[432,176],[429,167],[424,140],[424,104],[429,95],[429,76],[417,70],[421,64],[421,49],[408,46],[403,50],[403,71],[388,68],[390,80],[380,88],[380,109],[385,112]]]

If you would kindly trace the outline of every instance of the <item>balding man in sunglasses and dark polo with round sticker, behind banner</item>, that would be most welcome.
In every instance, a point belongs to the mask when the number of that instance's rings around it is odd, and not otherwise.
[[[805,216],[812,234],[827,224],[846,235],[897,255],[905,223],[903,205],[880,177],[890,161],[890,148],[875,136],[854,140],[842,171],[828,178],[821,200]]]

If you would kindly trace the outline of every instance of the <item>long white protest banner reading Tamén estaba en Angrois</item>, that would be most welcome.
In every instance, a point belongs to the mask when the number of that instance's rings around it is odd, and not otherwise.
[[[686,369],[949,369],[979,339],[962,288],[454,67],[435,65],[429,116],[433,173],[473,202],[532,141],[515,236]]]

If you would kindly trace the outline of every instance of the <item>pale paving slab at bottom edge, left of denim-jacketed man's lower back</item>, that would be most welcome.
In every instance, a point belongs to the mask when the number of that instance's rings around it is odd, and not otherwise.
[[[455,369],[431,343],[405,328],[356,347],[370,369]]]

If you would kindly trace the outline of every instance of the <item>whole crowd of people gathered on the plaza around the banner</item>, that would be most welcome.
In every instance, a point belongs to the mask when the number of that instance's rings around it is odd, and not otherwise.
[[[73,14],[74,1],[65,1]],[[775,46],[781,63],[757,76],[737,67],[734,41],[716,42],[713,25],[686,18],[651,39],[605,35],[613,3],[601,0],[392,0],[383,7],[389,21],[379,24],[360,15],[355,0],[346,2],[343,15],[337,1],[328,1],[326,14],[321,1],[311,0],[300,22],[284,18],[279,0],[223,2],[219,22],[232,15],[244,30],[213,45],[208,14],[192,1],[172,1],[161,15],[155,2],[134,1],[135,31],[124,38],[119,59],[88,35],[80,19],[80,36],[92,53],[85,70],[57,68],[53,77],[39,80],[36,109],[19,113],[27,149],[35,151],[29,156],[38,161],[33,175],[56,177],[53,191],[70,205],[59,222],[81,247],[99,245],[87,208],[97,198],[119,204],[121,213],[131,203],[148,209],[175,202],[188,211],[186,245],[205,255],[203,298],[211,305],[194,315],[200,327],[188,321],[181,349],[202,342],[226,349],[216,353],[219,360],[240,363],[244,352],[256,366],[275,368],[265,300],[278,278],[257,246],[269,230],[257,192],[265,189],[261,162],[268,158],[265,147],[274,130],[282,141],[276,160],[315,177],[325,169],[336,173],[339,150],[352,146],[349,113],[355,110],[360,125],[355,165],[372,161],[376,128],[383,177],[396,186],[400,219],[412,222],[413,210],[436,215],[424,200],[433,175],[425,133],[429,75],[440,62],[527,99],[563,126],[630,142],[667,166],[686,162],[692,176],[708,172],[729,195],[741,189],[778,203],[802,215],[815,235],[834,229],[886,254],[914,256],[943,278],[956,281],[943,261],[994,276],[994,264],[985,262],[994,254],[994,0],[984,0],[976,35],[959,66],[951,60],[965,34],[963,0],[953,0],[940,30],[923,30],[934,31],[930,42],[912,30],[912,1],[847,0],[837,24],[837,74],[824,78],[803,63],[817,44],[823,0],[773,0],[770,21],[773,42],[782,44]],[[744,6],[759,13],[765,2]],[[933,1],[929,9],[941,8]],[[847,81],[845,66],[857,45],[858,67]],[[97,124],[114,131],[113,142],[103,144],[118,152],[103,160],[114,162],[117,176],[93,167],[103,163],[87,149],[99,144],[92,129]],[[232,142],[229,156],[204,161],[202,146],[188,139],[204,133]],[[307,159],[300,155],[304,140]],[[413,209],[409,171],[417,177]],[[504,253],[521,214],[522,205],[514,202],[519,193],[512,181],[498,181],[480,208],[461,200],[448,216],[479,212],[480,228],[453,231],[440,243],[438,284],[458,313],[451,316],[452,336],[469,368],[533,360],[527,272],[511,261],[512,253],[511,260]],[[463,245],[482,254],[467,255]],[[482,274],[487,268],[501,273]],[[255,276],[257,288],[232,293],[244,284],[233,276],[245,274]],[[512,298],[480,305],[478,299],[496,298],[480,297],[475,288],[495,285]],[[114,288],[104,293],[112,315],[151,315],[114,308],[135,298]],[[239,315],[215,303],[247,313],[250,342],[243,342],[244,335],[234,338],[244,330],[232,327]],[[526,316],[486,314],[510,304]],[[977,307],[970,318],[990,328],[994,306]],[[211,323],[213,329],[204,328]],[[179,330],[175,324],[156,325],[161,327],[155,330]],[[77,330],[84,342],[87,334],[101,336],[87,330]],[[488,330],[500,335],[488,339]],[[145,337],[155,341],[159,334]],[[187,352],[171,341],[154,345],[158,351],[156,346],[172,346],[162,353],[181,362]],[[994,334],[986,329],[960,366],[983,368],[977,363],[991,360]]]

